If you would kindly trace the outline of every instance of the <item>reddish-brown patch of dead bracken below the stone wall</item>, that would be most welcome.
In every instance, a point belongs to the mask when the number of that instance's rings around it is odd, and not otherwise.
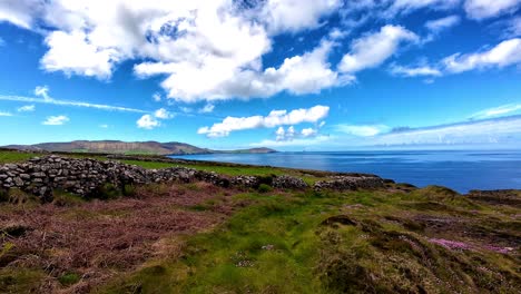
[[[234,209],[233,194],[206,183],[171,184],[140,187],[134,198],[110,202],[0,207],[0,228],[9,231],[0,242],[10,247],[0,264],[43,271],[48,278],[37,292],[85,293],[155,256],[161,238],[219,224]],[[210,200],[220,208],[191,209]],[[75,285],[58,282],[71,275],[78,276]]]

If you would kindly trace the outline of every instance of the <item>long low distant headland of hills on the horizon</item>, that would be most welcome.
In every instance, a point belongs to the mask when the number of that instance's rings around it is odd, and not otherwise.
[[[126,154],[126,155],[184,155],[184,154],[265,154],[275,153],[269,148],[252,148],[240,150],[212,150],[199,148],[189,144],[170,141],[119,141],[119,140],[76,140],[69,143],[42,143],[35,145],[9,145],[4,148],[36,151],[58,153],[100,153],[100,154]]]

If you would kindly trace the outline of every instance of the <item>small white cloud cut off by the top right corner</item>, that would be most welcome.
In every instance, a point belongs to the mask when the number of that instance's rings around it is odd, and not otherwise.
[[[486,19],[515,11],[521,0],[466,0],[464,9],[469,18]]]

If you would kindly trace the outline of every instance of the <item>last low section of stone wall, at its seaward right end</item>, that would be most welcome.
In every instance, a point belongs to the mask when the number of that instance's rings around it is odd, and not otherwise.
[[[328,180],[316,182],[313,188],[315,190],[355,190],[362,189],[377,189],[384,187],[384,180],[377,176],[335,176]]]

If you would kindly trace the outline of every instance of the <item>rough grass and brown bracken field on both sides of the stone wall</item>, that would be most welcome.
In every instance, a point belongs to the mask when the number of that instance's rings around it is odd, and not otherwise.
[[[0,204],[0,293],[521,292],[519,192],[491,198],[395,184],[318,193],[190,183],[136,187],[110,200],[58,194],[46,205],[10,193],[19,200]]]

